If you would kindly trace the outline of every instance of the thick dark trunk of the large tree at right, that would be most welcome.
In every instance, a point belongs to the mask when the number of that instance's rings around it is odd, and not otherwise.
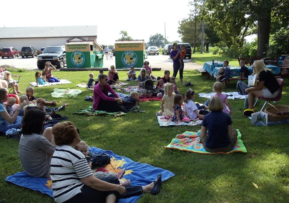
[[[258,51],[257,56],[264,57],[265,52],[267,50],[267,46],[269,44],[270,38],[270,23],[271,23],[271,11],[272,7],[268,8],[266,11],[267,15],[263,15],[258,20]]]

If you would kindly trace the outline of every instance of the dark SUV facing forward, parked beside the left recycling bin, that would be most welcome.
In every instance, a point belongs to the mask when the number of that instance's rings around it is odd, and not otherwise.
[[[37,67],[40,70],[43,70],[47,61],[50,61],[52,65],[57,66],[57,69],[64,68],[64,64],[66,63],[65,46],[45,47],[42,54],[38,55]]]

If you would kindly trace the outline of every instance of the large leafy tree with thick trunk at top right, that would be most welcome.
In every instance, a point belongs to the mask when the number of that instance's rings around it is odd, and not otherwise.
[[[274,3],[272,0],[206,0],[204,19],[215,27],[227,47],[233,44],[242,47],[244,37],[258,26],[258,56],[263,57],[269,44],[271,16],[274,14],[275,22],[281,21],[283,26],[288,26],[288,6],[282,0]]]

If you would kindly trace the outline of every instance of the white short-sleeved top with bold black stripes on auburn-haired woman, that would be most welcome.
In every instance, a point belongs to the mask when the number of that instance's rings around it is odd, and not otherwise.
[[[85,156],[72,146],[56,146],[51,159],[50,173],[53,196],[56,202],[64,202],[81,192],[81,178],[92,175]]]

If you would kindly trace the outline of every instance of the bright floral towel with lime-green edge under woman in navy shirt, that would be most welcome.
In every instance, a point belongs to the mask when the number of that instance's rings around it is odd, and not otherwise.
[[[236,130],[238,131],[238,140],[230,152],[207,152],[200,141],[200,131],[197,133],[185,131],[183,134],[179,134],[176,136],[176,138],[172,139],[171,143],[166,146],[166,148],[179,149],[182,151],[195,152],[200,154],[230,154],[233,152],[247,153],[247,149],[241,140],[241,133],[238,129]]]

